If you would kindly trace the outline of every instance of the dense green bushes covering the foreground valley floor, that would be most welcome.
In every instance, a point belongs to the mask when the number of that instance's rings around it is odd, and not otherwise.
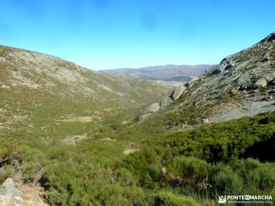
[[[49,149],[21,144],[0,152],[16,152],[27,181],[45,170],[40,181],[51,205],[213,205],[222,194],[275,196],[274,134],[275,113],[265,113],[149,135],[132,155],[122,153],[129,136]],[[2,166],[1,181],[14,173],[12,165]]]

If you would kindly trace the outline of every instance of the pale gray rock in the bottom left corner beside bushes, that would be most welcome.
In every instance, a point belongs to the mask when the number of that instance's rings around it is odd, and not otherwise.
[[[0,205],[21,205],[22,193],[15,187],[11,178],[6,179],[0,187]]]

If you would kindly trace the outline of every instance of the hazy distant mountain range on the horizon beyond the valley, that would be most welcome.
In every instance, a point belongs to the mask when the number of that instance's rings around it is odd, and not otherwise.
[[[117,75],[135,75],[146,80],[179,81],[186,82],[191,78],[199,76],[214,65],[165,65],[154,67],[143,67],[140,69],[106,69],[104,73]]]

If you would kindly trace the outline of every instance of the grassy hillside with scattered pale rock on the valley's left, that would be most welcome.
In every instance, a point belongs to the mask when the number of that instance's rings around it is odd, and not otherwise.
[[[61,135],[66,122],[122,122],[167,93],[159,84],[137,77],[91,71],[60,58],[0,46],[0,130],[41,130]],[[72,126],[71,126],[72,127]],[[44,129],[41,129],[44,128]],[[36,131],[37,132],[37,131]],[[48,131],[47,131],[48,133]],[[74,132],[83,135],[86,131]]]

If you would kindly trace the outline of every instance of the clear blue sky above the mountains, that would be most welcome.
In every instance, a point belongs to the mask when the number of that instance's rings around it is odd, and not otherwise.
[[[0,44],[91,69],[215,64],[275,30],[274,0],[1,0]]]

